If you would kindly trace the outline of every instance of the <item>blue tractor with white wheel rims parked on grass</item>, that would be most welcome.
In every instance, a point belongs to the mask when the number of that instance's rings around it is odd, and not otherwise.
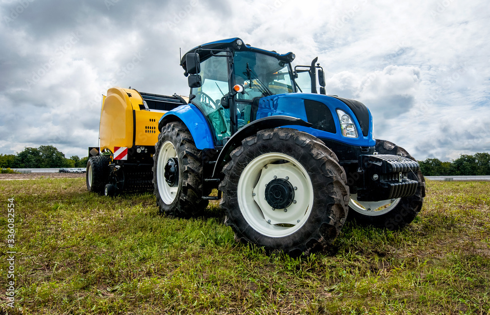
[[[153,155],[162,213],[192,216],[221,199],[236,240],[294,256],[328,248],[346,220],[394,230],[415,219],[417,161],[374,139],[364,104],[325,95],[316,59],[293,68],[294,57],[240,38],[183,56],[189,103],[161,117]],[[299,92],[300,72],[311,93]]]

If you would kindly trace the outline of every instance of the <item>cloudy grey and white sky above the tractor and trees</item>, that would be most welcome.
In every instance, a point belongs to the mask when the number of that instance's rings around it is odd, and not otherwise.
[[[3,154],[87,156],[109,87],[187,95],[179,47],[231,37],[318,56],[327,93],[419,160],[490,151],[488,1],[0,0],[0,15]]]

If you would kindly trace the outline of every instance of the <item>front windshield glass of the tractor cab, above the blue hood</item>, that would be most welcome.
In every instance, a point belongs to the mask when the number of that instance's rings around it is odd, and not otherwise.
[[[234,84],[243,85],[245,91],[237,94],[237,99],[294,92],[289,63],[251,51],[236,51],[233,59]]]

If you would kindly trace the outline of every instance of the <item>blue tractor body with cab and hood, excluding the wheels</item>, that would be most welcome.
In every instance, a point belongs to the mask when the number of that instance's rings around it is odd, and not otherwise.
[[[389,172],[387,178],[393,182],[383,187],[380,181],[368,182],[364,176],[363,168],[368,166],[361,161],[375,154],[376,145],[368,108],[355,100],[325,95],[323,71],[315,65],[317,59],[311,66],[296,66],[306,69],[293,70],[294,58],[292,52],[278,54],[254,48],[239,38],[191,49],[181,60],[191,88],[190,102],[165,113],[159,129],[172,121],[187,126],[196,148],[203,152],[202,180],[215,188],[230,153],[242,145],[245,137],[263,129],[287,127],[315,136],[336,154],[352,194],[359,190],[366,200],[395,196],[389,192],[405,180],[405,172]],[[317,69],[321,69],[321,94],[316,90]],[[294,78],[299,72],[309,72],[311,94],[298,92]],[[221,198],[221,192],[218,197],[202,198]]]

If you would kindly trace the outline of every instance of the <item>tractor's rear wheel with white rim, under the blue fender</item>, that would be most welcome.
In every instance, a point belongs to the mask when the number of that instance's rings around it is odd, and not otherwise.
[[[202,183],[202,151],[187,127],[171,122],[158,135],[153,156],[154,194],[161,213],[189,217],[205,209],[211,188]]]

